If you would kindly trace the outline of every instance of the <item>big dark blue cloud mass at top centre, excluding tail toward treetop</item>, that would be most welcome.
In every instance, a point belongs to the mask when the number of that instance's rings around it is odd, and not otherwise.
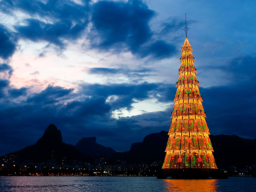
[[[94,4],[92,22],[101,36],[99,46],[107,49],[126,42],[131,49],[137,49],[151,38],[148,21],[153,15],[154,11],[142,1],[98,1]]]

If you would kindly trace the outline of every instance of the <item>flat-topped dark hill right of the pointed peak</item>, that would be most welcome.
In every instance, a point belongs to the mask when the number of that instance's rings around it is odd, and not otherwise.
[[[76,145],[70,145],[79,151],[82,151],[86,155],[90,156],[105,156],[110,157],[111,155],[117,153],[110,147],[104,147],[101,144],[96,143],[96,138],[82,138],[76,143]]]

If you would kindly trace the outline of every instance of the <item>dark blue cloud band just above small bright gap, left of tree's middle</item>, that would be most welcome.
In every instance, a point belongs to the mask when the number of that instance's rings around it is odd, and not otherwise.
[[[84,84],[82,93],[85,95],[109,96],[116,95],[112,103],[113,109],[131,108],[135,103],[133,99],[142,101],[150,97],[156,98],[159,102],[169,103],[173,101],[177,87],[176,84],[168,83],[140,83],[140,84]],[[160,95],[160,96],[159,96]],[[111,98],[110,98],[111,100]]]

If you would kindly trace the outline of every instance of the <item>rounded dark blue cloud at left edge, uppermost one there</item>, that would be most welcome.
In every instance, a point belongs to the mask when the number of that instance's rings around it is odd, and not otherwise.
[[[10,33],[3,25],[0,25],[0,57],[8,59],[16,50],[17,38]]]

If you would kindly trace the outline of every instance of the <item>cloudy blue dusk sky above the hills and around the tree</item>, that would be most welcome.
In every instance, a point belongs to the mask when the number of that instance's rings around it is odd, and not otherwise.
[[[0,155],[49,124],[128,151],[168,131],[180,49],[194,49],[212,135],[256,138],[256,4],[239,0],[1,0]]]

